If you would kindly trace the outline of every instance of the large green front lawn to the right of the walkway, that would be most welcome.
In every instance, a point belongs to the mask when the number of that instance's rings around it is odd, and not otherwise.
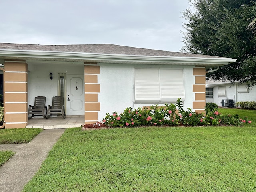
[[[254,113],[245,112],[255,119]],[[255,191],[253,123],[97,131],[69,128],[23,191]]]

